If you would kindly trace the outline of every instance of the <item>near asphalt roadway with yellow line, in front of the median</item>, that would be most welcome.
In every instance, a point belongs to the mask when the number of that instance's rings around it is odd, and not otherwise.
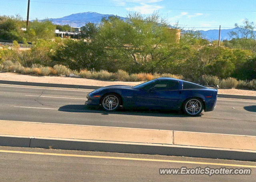
[[[50,153],[50,155],[49,155]],[[73,155],[73,156],[72,156]],[[74,156],[75,155],[75,156]],[[156,161],[158,160],[158,161]],[[198,163],[199,162],[199,163]],[[234,166],[238,165],[238,166]],[[251,168],[250,175],[160,175],[159,168]],[[0,147],[0,181],[230,181],[254,182],[256,162]]]

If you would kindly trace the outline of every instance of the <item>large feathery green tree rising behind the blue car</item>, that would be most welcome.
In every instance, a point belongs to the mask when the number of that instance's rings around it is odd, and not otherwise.
[[[129,72],[156,71],[155,63],[172,57],[173,52],[168,51],[178,43],[176,33],[170,31],[158,13],[150,16],[133,13],[126,21],[116,16],[102,20],[97,39],[107,51],[130,65]]]

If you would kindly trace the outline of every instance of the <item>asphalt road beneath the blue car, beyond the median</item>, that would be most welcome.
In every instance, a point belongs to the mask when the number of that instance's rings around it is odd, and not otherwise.
[[[218,98],[213,112],[188,117],[177,112],[86,108],[90,91],[0,84],[0,119],[256,135],[256,100]]]

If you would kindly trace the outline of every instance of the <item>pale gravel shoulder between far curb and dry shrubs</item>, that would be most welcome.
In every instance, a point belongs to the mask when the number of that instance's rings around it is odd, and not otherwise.
[[[11,72],[0,72],[0,80],[19,81],[19,82],[38,82],[38,83],[55,83],[55,84],[73,84],[88,86],[108,86],[108,85],[137,85],[142,82],[123,82],[123,81],[102,81],[87,78],[70,78],[66,76],[34,76],[16,74]],[[255,90],[245,89],[218,89],[219,94],[231,94],[242,96],[256,96]]]

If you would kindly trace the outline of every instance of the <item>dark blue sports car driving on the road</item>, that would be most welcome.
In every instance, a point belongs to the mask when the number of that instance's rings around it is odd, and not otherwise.
[[[87,95],[86,105],[113,111],[124,108],[182,110],[188,115],[212,111],[217,89],[174,78],[157,78],[136,86],[105,86]]]

